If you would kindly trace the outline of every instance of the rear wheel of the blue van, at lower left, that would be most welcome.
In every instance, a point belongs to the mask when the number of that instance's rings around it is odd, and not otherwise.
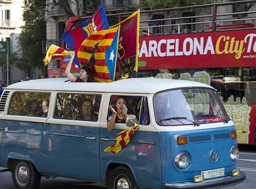
[[[12,166],[12,180],[16,188],[37,188],[41,175],[29,161],[15,161]]]

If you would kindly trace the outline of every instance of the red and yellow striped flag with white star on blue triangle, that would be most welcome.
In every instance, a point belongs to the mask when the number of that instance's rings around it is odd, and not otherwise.
[[[114,81],[120,26],[88,36],[79,48],[80,66],[93,66],[95,82]]]

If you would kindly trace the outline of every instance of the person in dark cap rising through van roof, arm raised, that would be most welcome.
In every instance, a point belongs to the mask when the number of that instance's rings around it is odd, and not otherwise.
[[[75,52],[73,51],[70,54],[70,60],[65,70],[65,74],[67,75],[67,78],[69,78],[71,82],[93,82],[93,78],[92,78],[93,71],[87,65],[83,65],[80,68],[79,78],[77,78],[77,76],[75,76],[74,74],[70,73],[74,57],[75,57]]]

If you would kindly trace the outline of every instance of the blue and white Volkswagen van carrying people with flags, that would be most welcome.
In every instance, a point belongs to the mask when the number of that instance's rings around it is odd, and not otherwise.
[[[237,169],[236,130],[213,87],[156,78],[111,83],[38,79],[12,84],[0,100],[0,167],[17,188],[41,177],[105,183],[108,188],[210,188],[245,179]],[[127,100],[139,129],[119,153],[104,149],[130,129],[107,130],[109,104]],[[82,116],[84,100],[90,118]],[[114,106],[114,104],[113,104]]]

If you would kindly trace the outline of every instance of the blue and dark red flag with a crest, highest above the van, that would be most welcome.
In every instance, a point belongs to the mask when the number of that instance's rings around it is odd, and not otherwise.
[[[90,36],[92,33],[96,33],[100,30],[109,29],[108,19],[106,18],[105,10],[101,2],[100,9],[98,9],[92,18],[88,18],[83,21],[79,26],[72,30],[65,31],[62,34],[62,40],[66,42],[69,50],[75,50],[74,62],[75,65],[79,66],[79,61],[77,59],[77,51],[81,46],[82,42]]]

